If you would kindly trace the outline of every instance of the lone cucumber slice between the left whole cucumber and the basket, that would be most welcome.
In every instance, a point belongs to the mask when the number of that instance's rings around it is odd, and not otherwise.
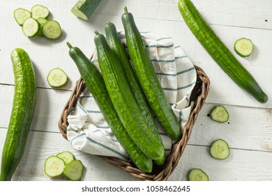
[[[54,68],[48,73],[47,82],[52,87],[60,87],[66,84],[67,78],[66,73],[61,68]]]

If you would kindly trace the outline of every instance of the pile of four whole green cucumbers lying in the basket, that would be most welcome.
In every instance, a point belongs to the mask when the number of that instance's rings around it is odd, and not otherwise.
[[[67,45],[116,139],[139,170],[151,173],[153,163],[163,166],[166,160],[153,114],[171,139],[181,137],[181,126],[158,81],[133,15],[126,7],[124,10],[121,19],[130,60],[111,22],[105,25],[105,36],[95,31],[100,71],[78,47],[69,42]]]

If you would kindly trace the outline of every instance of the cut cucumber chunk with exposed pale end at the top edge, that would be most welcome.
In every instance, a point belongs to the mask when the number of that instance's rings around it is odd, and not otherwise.
[[[71,11],[80,19],[89,20],[89,17],[91,17],[100,2],[101,0],[79,0]]]

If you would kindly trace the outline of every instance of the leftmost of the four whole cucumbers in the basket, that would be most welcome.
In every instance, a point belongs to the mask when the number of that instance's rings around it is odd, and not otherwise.
[[[96,68],[96,65],[91,63],[78,47],[72,47],[70,43],[67,43],[67,45],[70,48],[70,57],[75,61],[82,79],[85,81],[85,84],[87,88],[89,88],[93,98],[95,98],[96,103],[98,104],[100,111],[103,113],[103,116],[105,117],[105,120],[111,128],[114,136],[119,140],[121,146],[126,150],[126,153],[128,153],[128,156],[137,168],[144,173],[151,173],[153,167],[151,159],[142,153],[123,127],[123,124],[114,109],[112,101],[109,98],[109,93],[107,92],[104,79],[98,68]]]

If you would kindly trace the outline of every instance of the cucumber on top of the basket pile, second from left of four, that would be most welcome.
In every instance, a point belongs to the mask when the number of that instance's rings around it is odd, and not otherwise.
[[[144,154],[151,159],[162,158],[165,148],[163,148],[163,144],[153,134],[146,120],[144,120],[144,116],[142,116],[142,112],[126,80],[121,62],[110,49],[105,36],[98,33],[98,31],[95,33],[94,42],[100,70],[109,92],[109,97],[123,126]]]

